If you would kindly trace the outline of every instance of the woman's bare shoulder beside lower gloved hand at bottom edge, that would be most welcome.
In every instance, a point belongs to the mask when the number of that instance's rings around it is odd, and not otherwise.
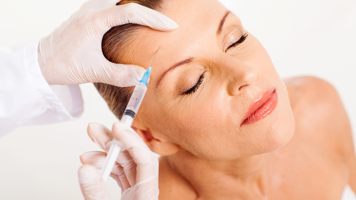
[[[159,189],[160,200],[197,199],[191,185],[170,168],[167,157],[160,158]]]

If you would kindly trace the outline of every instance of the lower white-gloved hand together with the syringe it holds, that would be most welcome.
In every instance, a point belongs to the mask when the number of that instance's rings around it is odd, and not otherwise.
[[[87,196],[85,199],[97,197],[98,199],[111,200],[105,182],[101,178],[106,180],[110,173],[122,188],[122,200],[158,199],[158,158],[131,128],[133,118],[146,91],[145,85],[150,77],[150,71],[151,68],[146,71],[141,80],[142,83],[136,86],[135,91],[137,92],[133,93],[121,122],[114,123],[112,131],[102,124],[89,124],[88,135],[90,138],[103,150],[106,150],[107,144],[111,143],[111,152],[108,152],[108,155],[100,151],[87,152],[80,156],[84,165],[79,170],[79,182],[84,197]],[[112,136],[114,140],[112,140]],[[126,148],[127,150],[124,150]],[[120,151],[122,152],[120,153]],[[106,160],[103,166],[101,163],[103,163],[104,156],[106,156]],[[115,161],[117,163],[113,170]],[[102,175],[93,165],[97,169],[103,169]],[[96,184],[93,185],[93,183]]]

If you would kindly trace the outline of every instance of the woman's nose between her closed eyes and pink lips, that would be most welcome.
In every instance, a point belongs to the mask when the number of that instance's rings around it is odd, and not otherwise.
[[[255,68],[235,58],[228,58],[222,62],[222,70],[226,70],[226,90],[229,95],[239,95],[243,88],[252,85],[257,78]]]

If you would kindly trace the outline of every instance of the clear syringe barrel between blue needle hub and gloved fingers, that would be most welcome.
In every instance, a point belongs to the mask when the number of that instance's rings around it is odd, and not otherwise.
[[[136,85],[135,90],[133,91],[130,101],[126,107],[124,116],[129,115],[132,118],[135,118],[146,91],[147,87],[143,83],[139,83],[138,85]]]

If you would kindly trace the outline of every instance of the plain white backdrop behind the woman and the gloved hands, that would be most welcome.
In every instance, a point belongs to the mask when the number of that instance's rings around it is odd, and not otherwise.
[[[0,1],[0,46],[48,35],[84,0]],[[356,127],[356,1],[222,1],[270,53],[283,77],[312,75],[339,91]],[[83,199],[79,155],[99,150],[86,126],[116,118],[92,84],[80,86],[84,113],[77,121],[21,127],[0,138],[0,199]],[[355,141],[355,140],[354,140]],[[120,189],[108,183],[113,199]]]

